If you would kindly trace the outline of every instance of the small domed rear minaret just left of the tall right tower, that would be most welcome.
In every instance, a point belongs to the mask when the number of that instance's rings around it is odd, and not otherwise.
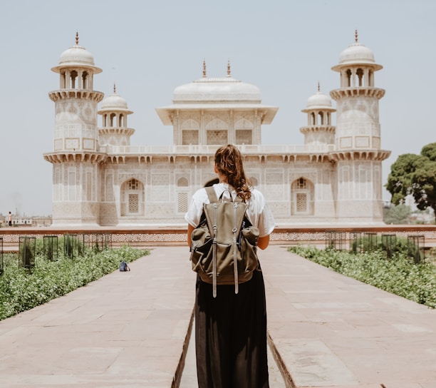
[[[331,125],[331,113],[335,111],[331,98],[321,93],[318,82],[318,91],[308,98],[306,108],[301,110],[307,113],[307,126],[300,128],[304,135],[304,144],[334,144],[335,127]]]

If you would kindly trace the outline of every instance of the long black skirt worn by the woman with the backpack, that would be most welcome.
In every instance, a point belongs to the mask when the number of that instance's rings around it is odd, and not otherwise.
[[[199,388],[269,388],[264,277],[212,285],[197,276],[195,350]]]

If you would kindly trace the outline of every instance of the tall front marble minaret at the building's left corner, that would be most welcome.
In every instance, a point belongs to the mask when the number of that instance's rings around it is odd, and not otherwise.
[[[53,225],[98,225],[100,218],[97,105],[103,93],[93,90],[101,72],[90,52],[76,44],[63,51],[58,66],[59,89],[48,93],[55,103],[53,153]]]

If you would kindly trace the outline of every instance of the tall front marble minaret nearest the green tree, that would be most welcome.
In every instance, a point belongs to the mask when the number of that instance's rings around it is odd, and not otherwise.
[[[380,150],[378,101],[385,94],[375,87],[373,52],[358,42],[348,46],[332,67],[341,75],[341,88],[331,91],[336,100],[337,218],[343,223],[382,223],[382,160],[390,151]]]

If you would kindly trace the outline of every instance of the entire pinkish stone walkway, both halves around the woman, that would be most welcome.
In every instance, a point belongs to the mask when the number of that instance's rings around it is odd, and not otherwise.
[[[259,255],[287,387],[436,388],[436,310],[279,245]],[[131,272],[1,321],[0,387],[177,387],[194,303],[187,257],[156,247]]]

